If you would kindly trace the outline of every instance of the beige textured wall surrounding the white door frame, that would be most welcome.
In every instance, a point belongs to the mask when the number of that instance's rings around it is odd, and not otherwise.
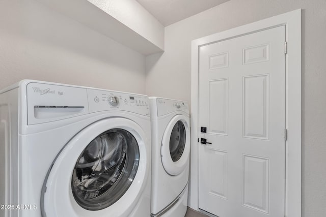
[[[165,28],[165,52],[146,57],[146,94],[191,100],[191,41],[302,8],[302,211],[326,216],[326,1],[231,0]]]

